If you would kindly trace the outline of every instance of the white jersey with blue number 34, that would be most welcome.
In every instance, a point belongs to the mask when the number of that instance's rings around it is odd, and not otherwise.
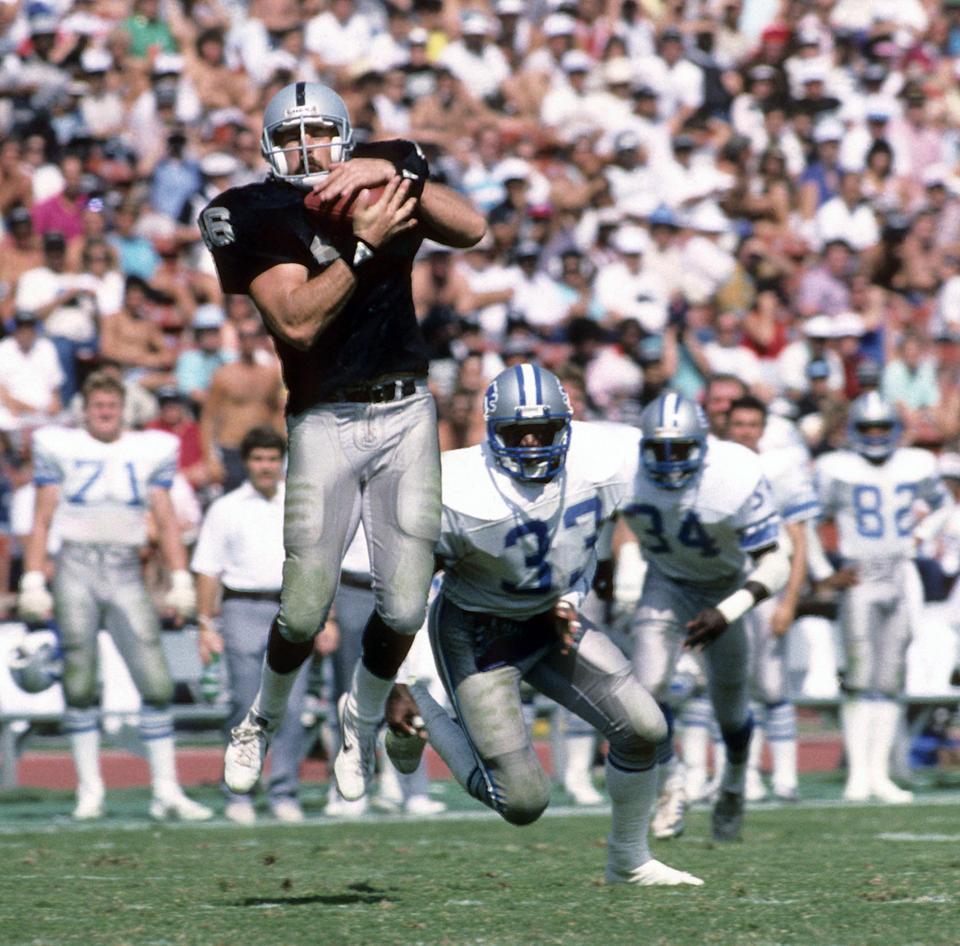
[[[694,585],[736,580],[750,552],[780,537],[759,455],[715,437],[707,443],[703,466],[681,489],[657,486],[639,466],[623,509],[643,557],[668,578]]]

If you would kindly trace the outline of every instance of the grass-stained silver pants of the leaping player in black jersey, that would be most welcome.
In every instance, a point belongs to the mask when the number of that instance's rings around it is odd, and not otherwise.
[[[377,612],[415,634],[440,535],[440,450],[433,397],[320,404],[287,421],[280,627],[294,642],[323,627],[340,563],[363,520]]]

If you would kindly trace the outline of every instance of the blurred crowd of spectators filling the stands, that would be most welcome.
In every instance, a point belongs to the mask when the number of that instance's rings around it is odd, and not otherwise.
[[[814,455],[870,389],[956,451],[958,76],[957,0],[3,0],[0,583],[30,432],[94,368],[180,437],[188,538],[244,433],[282,429],[269,336],[196,221],[265,174],[291,81],[486,215],[414,269],[444,448],[539,360],[587,417],[732,375]]]

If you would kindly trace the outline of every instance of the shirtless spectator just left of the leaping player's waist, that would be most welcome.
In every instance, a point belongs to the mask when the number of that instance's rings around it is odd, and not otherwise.
[[[262,426],[285,429],[279,364],[262,360],[263,326],[258,319],[248,319],[237,336],[240,357],[214,373],[200,414],[207,469],[225,491],[236,489],[246,475],[240,444],[247,431]]]

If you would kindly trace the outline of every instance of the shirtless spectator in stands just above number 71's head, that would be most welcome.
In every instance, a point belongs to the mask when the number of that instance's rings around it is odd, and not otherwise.
[[[127,278],[120,311],[100,320],[100,353],[135,374],[145,388],[173,382],[176,355],[150,318],[147,284],[137,276]]]

